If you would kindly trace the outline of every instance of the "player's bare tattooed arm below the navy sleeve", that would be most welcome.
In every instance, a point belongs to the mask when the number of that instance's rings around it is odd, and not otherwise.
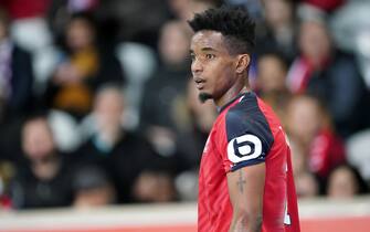
[[[265,164],[228,173],[233,218],[229,232],[261,232]]]

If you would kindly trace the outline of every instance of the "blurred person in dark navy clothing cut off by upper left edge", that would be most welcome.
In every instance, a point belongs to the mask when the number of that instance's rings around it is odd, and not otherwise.
[[[0,160],[19,162],[14,156],[23,116],[32,112],[32,59],[10,38],[10,19],[0,8]]]

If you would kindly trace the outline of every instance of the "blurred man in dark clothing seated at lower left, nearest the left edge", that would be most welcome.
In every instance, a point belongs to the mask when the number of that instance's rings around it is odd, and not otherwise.
[[[29,118],[22,128],[22,149],[29,164],[17,167],[11,183],[14,208],[65,207],[72,201],[70,168],[55,150],[44,116]]]

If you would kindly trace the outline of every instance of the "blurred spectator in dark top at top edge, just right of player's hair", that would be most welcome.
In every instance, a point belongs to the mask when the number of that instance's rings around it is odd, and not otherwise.
[[[265,22],[256,32],[256,53],[278,52],[292,62],[297,53],[295,6],[292,0],[264,0]]]

